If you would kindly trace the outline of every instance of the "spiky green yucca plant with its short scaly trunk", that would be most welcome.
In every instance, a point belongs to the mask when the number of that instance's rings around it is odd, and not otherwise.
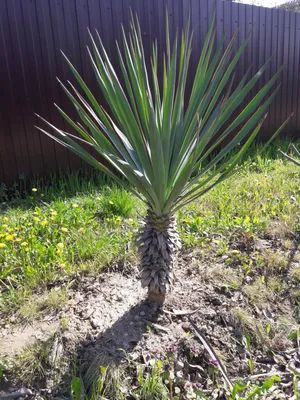
[[[188,77],[192,50],[189,22],[181,40],[176,35],[172,45],[166,22],[166,52],[163,57],[158,54],[157,42],[154,42],[151,66],[147,67],[138,18],[131,15],[129,36],[122,28],[122,51],[117,44],[122,83],[98,32],[96,39],[90,34],[92,51],[88,49],[88,54],[109,110],[99,105],[64,56],[81,91],[70,82],[69,88],[61,82],[60,85],[81,122],[75,122],[56,107],[81,138],[40,117],[55,135],[38,129],[113,177],[146,204],[148,211],[137,243],[141,281],[148,287],[149,299],[158,302],[163,302],[174,280],[174,264],[180,247],[176,211],[235,172],[279,89],[277,86],[266,97],[281,68],[242,110],[238,109],[271,59],[249,80],[248,70],[234,86],[233,70],[248,37],[235,53],[237,32],[224,52],[225,36],[215,49],[214,22],[213,17],[186,104],[186,83],[191,79]],[[158,74],[159,62],[163,63],[162,76]],[[99,153],[99,158],[81,147],[78,140]],[[235,155],[224,158],[241,142]]]

